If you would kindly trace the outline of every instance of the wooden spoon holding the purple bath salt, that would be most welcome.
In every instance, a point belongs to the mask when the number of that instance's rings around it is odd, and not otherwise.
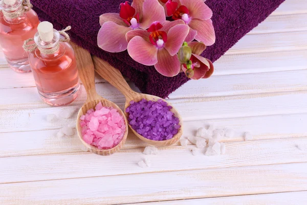
[[[125,103],[125,110],[127,107],[130,106],[129,102],[131,100],[134,100],[136,102],[142,100],[145,98],[146,100],[152,100],[152,101],[157,101],[158,99],[162,99],[157,96],[153,95],[147,95],[147,94],[141,94],[137,93],[129,87],[127,84],[126,80],[123,78],[122,74],[117,70],[116,68],[112,67],[109,65],[106,61],[100,59],[97,56],[93,56],[93,62],[94,62],[94,67],[95,71],[103,77],[105,80],[107,80],[110,84],[112,84],[114,87],[116,87],[123,95],[126,97],[126,103]],[[162,99],[164,100],[164,99]],[[165,100],[164,100],[165,101]],[[166,103],[171,106],[167,101]],[[182,119],[180,114],[177,112],[176,109],[173,108],[170,110],[172,113],[174,113],[174,116],[179,118],[179,125],[181,125],[181,128],[178,130],[178,133],[173,136],[173,138],[168,139],[168,140],[162,140],[162,141],[156,141],[156,140],[151,140],[143,137],[142,135],[138,134],[129,124],[130,129],[143,141],[147,142],[148,144],[154,145],[154,146],[170,146],[173,145],[175,142],[177,142],[180,137],[182,136]],[[126,117],[128,118],[128,113],[126,113]]]

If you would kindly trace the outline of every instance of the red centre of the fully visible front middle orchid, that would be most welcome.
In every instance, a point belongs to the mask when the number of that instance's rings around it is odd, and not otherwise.
[[[167,42],[167,33],[165,31],[160,31],[162,27],[160,22],[153,22],[147,30],[150,33],[150,43],[157,46],[157,48],[163,48],[164,44]]]

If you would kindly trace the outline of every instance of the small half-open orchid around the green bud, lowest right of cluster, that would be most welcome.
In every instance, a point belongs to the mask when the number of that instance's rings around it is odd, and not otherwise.
[[[188,43],[188,46],[192,50],[192,56],[190,58],[190,66],[191,69],[193,70],[193,75],[190,78],[198,80],[201,78],[210,77],[214,71],[213,64],[209,59],[200,56],[203,53],[203,51],[206,49],[206,45],[200,42],[190,42]],[[187,65],[183,64],[181,68],[187,74],[188,71]]]

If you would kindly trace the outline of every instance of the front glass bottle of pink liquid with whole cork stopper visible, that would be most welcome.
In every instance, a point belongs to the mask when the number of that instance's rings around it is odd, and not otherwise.
[[[51,23],[42,22],[34,36],[37,48],[29,54],[38,93],[52,106],[68,105],[80,92],[75,53],[72,46],[64,41],[69,39],[61,38]]]

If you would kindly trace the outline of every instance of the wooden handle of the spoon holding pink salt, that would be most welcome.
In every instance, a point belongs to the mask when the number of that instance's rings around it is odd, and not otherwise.
[[[77,68],[79,76],[84,85],[87,94],[87,101],[92,101],[97,98],[97,92],[95,88],[95,71],[92,56],[89,51],[72,43],[74,48]]]

